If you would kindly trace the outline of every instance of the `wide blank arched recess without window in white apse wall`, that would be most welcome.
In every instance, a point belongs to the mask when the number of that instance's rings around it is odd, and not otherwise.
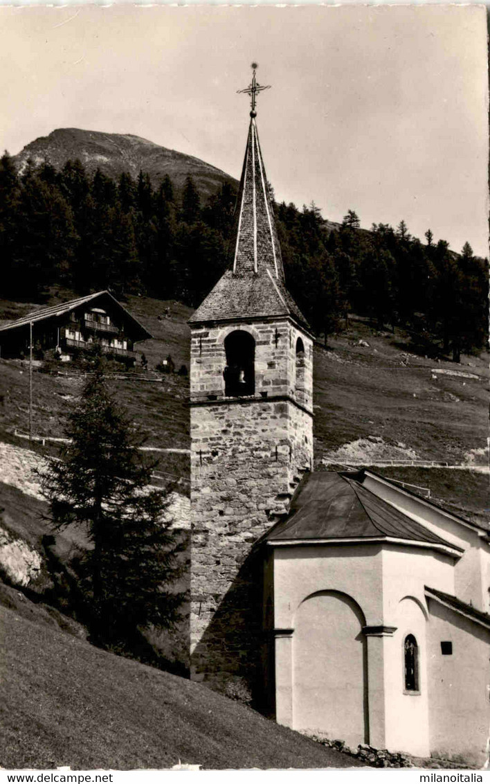
[[[296,610],[293,727],[350,745],[368,742],[365,616],[347,593],[325,590]]]

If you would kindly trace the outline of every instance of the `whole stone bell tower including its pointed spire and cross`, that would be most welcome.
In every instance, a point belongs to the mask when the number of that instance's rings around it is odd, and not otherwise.
[[[285,288],[256,127],[230,266],[191,325],[191,677],[260,691],[263,566],[257,540],[313,460],[313,343]]]

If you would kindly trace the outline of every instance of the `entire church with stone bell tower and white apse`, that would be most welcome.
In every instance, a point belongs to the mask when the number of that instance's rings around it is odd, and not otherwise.
[[[253,72],[230,265],[191,320],[191,678],[280,724],[485,761],[490,533],[314,471],[314,336],[286,288]]]

